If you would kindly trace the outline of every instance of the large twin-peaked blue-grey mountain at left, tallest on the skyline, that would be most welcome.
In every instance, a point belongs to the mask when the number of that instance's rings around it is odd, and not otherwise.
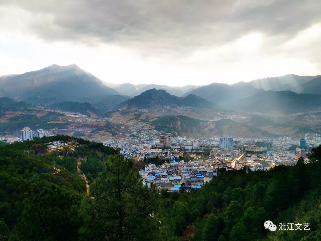
[[[0,89],[4,96],[35,104],[48,101],[88,102],[101,96],[118,94],[75,64],[51,65],[15,75],[0,81]]]

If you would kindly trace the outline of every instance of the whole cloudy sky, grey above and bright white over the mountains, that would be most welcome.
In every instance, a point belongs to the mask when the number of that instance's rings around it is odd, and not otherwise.
[[[77,64],[111,83],[321,74],[320,0],[1,0],[0,75]]]

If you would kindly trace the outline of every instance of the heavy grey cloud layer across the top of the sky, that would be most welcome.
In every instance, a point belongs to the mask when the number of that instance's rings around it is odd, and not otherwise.
[[[47,41],[182,54],[251,32],[283,42],[321,22],[320,0],[3,0],[0,5],[32,13],[27,30]]]

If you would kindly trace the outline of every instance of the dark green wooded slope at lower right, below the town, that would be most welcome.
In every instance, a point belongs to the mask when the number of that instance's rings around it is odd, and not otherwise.
[[[310,163],[276,166],[268,172],[219,170],[210,183],[189,193],[161,193],[159,214],[171,235],[194,227],[191,240],[319,240],[321,237],[321,146]],[[179,209],[178,209],[179,207]],[[173,210],[179,214],[173,213]],[[191,210],[191,211],[184,211]],[[299,214],[297,214],[297,212]],[[187,215],[187,213],[190,215]],[[177,215],[179,217],[177,217]],[[266,220],[308,222],[311,232],[267,232]]]

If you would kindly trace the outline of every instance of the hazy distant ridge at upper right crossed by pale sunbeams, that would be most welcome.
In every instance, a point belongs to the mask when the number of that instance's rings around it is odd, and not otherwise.
[[[298,75],[285,75],[278,77],[270,78],[261,78],[248,82],[254,88],[264,89],[264,90],[292,90],[297,92],[297,86],[307,83],[311,79],[314,79],[317,76],[298,76]]]

